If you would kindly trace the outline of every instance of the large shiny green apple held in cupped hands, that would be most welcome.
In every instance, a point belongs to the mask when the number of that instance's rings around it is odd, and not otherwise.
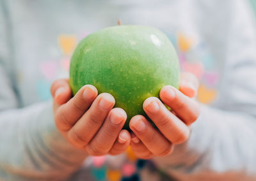
[[[77,45],[70,62],[73,94],[85,84],[116,99],[127,113],[145,115],[143,101],[159,98],[164,85],[179,87],[180,67],[175,48],[159,30],[144,25],[118,25],[92,33]],[[147,116],[147,115],[145,115]]]

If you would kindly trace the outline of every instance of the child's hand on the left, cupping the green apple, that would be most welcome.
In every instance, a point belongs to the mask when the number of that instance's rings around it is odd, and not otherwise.
[[[71,98],[68,80],[52,83],[53,112],[56,127],[64,138],[92,156],[120,154],[131,141],[122,130],[127,118],[121,108],[113,108],[115,99],[107,93],[99,96],[93,85],[84,85]]]

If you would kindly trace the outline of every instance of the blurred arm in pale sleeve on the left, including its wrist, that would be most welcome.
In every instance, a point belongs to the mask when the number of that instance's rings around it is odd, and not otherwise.
[[[18,108],[8,52],[8,17],[0,1],[0,180],[63,180],[86,154],[54,125],[52,101]]]

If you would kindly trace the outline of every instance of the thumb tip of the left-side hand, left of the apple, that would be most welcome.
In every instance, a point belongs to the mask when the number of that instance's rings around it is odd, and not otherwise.
[[[67,101],[72,96],[72,92],[68,84],[68,79],[63,78],[63,79],[55,80],[51,85],[51,94],[52,94],[52,98],[54,98],[54,102],[57,105],[62,105],[64,103],[67,103]]]

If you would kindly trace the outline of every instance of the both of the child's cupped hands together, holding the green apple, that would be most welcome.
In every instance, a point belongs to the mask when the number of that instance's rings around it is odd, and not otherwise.
[[[52,83],[54,120],[57,129],[74,147],[91,156],[117,155],[131,145],[141,159],[171,154],[173,145],[189,138],[189,126],[199,116],[196,96],[198,80],[190,73],[180,75],[180,89],[167,85],[160,98],[172,108],[170,112],[155,97],[147,98],[143,109],[154,121],[154,128],[142,115],[130,120],[133,133],[122,129],[127,115],[122,108],[113,108],[115,98],[108,93],[98,95],[93,85],[84,85],[72,97],[67,79]]]

